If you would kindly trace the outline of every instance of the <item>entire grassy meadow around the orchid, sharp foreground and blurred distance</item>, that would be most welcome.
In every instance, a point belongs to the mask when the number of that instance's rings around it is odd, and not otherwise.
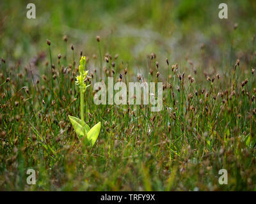
[[[256,190],[255,1],[226,1],[228,19],[213,0],[36,0],[35,19],[28,3],[0,1],[1,191]],[[93,148],[68,119],[81,56]],[[163,82],[163,109],[95,105],[108,77]]]

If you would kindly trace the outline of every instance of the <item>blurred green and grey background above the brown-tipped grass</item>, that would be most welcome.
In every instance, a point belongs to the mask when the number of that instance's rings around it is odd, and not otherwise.
[[[26,18],[28,3],[35,3],[36,19]],[[47,53],[46,39],[51,40],[54,56],[63,54],[66,34],[70,59],[71,44],[77,59],[81,50],[88,57],[98,55],[95,36],[99,35],[102,52],[118,54],[127,66],[138,69],[147,66],[147,55],[152,52],[159,62],[168,57],[184,66],[184,59],[205,67],[221,67],[226,61],[231,65],[236,58],[249,61],[251,56],[246,53],[254,49],[256,2],[225,1],[228,19],[218,18],[220,3],[223,1],[1,1],[0,57],[26,64],[33,55]],[[203,64],[198,62],[202,43]]]

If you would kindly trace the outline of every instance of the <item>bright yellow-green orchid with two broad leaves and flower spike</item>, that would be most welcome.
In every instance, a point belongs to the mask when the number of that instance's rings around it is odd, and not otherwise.
[[[71,115],[68,115],[68,117],[79,139],[84,143],[84,145],[90,145],[90,147],[93,147],[100,133],[100,122],[95,124],[95,126],[93,126],[91,129],[88,126],[88,124],[84,122],[84,111],[83,111],[84,92],[89,86],[84,83],[84,80],[88,78],[87,76],[88,70],[86,71],[84,70],[85,64],[86,64],[86,57],[81,57],[80,65],[79,65],[80,75],[76,77],[76,85],[79,85],[80,94],[81,94],[81,120]]]

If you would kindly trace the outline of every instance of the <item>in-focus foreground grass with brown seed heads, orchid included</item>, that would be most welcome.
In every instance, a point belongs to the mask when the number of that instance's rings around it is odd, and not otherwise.
[[[120,61],[111,54],[100,59],[106,63],[104,84],[108,76],[164,83],[164,108],[150,112],[147,105],[95,105],[92,85],[100,68],[89,78],[85,57],[77,68],[72,57],[66,66],[68,59],[52,56],[59,66],[54,89],[45,61],[38,60],[37,79],[29,69],[20,71],[19,83],[5,69],[0,75],[0,189],[255,189],[255,71],[246,73],[246,62],[237,61],[223,75],[188,70],[152,54],[147,78],[124,66],[122,55]],[[80,96],[70,92],[77,73]],[[70,116],[79,110],[81,119]],[[37,172],[35,186],[23,179],[28,168]],[[225,186],[216,179],[221,168],[228,171]]]

